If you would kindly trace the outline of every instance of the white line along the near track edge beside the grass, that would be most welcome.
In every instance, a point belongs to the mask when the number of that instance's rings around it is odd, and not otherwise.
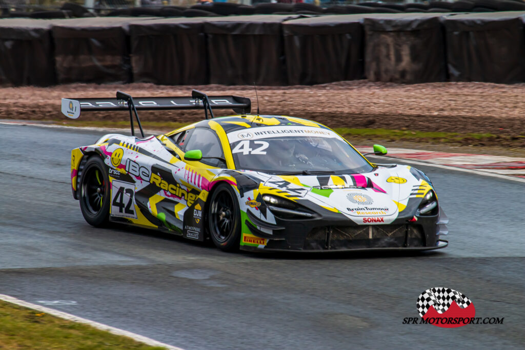
[[[107,331],[109,333],[116,334],[116,335],[122,335],[122,336],[125,336],[125,337],[128,337],[128,338],[132,338],[133,340],[135,340],[137,342],[141,342],[141,343],[144,343],[144,344],[147,344],[147,345],[163,346],[163,347],[165,347],[165,348],[167,348],[169,350],[183,350],[180,347],[164,344],[164,343],[158,342],[156,340],[153,340],[151,338],[142,336],[140,334],[135,334],[135,333],[132,333],[132,332],[121,330],[120,328],[115,328],[115,327],[108,326],[106,324],[102,324],[102,323],[98,323],[98,322],[95,322],[95,321],[83,319],[82,317],[71,315],[71,314],[68,314],[66,312],[62,312],[62,311],[58,311],[58,310],[54,310],[54,309],[49,309],[49,307],[36,305],[36,304],[31,304],[31,303],[29,303],[27,301],[23,301],[23,300],[20,300],[20,299],[13,298],[13,296],[0,294],[0,300],[6,301],[8,303],[16,304],[16,305],[19,305],[19,306],[28,307],[29,309],[37,310],[37,311],[40,311],[40,312],[45,312],[47,314],[50,314],[50,315],[53,315],[53,316],[57,316],[57,317],[60,317],[61,319],[65,319],[65,320],[68,320],[68,321],[73,321],[73,322],[87,324],[87,325],[89,325],[91,327],[95,327],[95,328],[97,328],[99,330]]]

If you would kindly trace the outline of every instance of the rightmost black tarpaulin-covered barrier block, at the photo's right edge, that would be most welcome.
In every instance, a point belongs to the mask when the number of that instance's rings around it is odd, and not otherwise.
[[[525,12],[446,17],[447,65],[451,81],[525,81]]]

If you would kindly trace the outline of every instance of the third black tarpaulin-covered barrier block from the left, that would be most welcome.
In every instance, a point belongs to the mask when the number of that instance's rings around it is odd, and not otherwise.
[[[207,84],[205,18],[160,18],[128,25],[133,80]]]

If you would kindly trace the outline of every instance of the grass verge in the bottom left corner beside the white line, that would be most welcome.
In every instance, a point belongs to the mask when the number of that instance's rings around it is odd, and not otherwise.
[[[160,350],[128,337],[0,301],[0,349]]]

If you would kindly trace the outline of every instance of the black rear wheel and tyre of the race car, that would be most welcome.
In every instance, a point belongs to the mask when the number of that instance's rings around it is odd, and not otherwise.
[[[80,179],[80,210],[88,224],[101,227],[109,218],[110,190],[106,164],[99,156],[89,157]]]

